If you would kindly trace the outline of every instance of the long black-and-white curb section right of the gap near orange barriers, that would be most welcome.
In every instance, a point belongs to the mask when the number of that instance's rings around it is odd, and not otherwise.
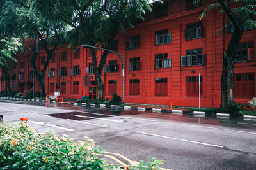
[[[108,104],[92,104],[92,103],[73,103],[77,106],[86,106],[86,107],[93,107],[93,108],[120,108],[124,110],[138,110],[138,111],[152,111],[152,112],[165,112],[165,113],[180,113],[180,114],[189,114],[189,115],[211,115],[215,117],[223,117],[229,118],[233,117],[228,113],[207,113],[203,111],[186,111],[186,110],[170,110],[170,109],[160,109],[160,108],[143,108],[143,107],[133,107],[133,106],[117,106],[117,105],[108,105]],[[248,119],[255,119],[256,116],[251,115],[239,115],[239,118],[248,118]]]

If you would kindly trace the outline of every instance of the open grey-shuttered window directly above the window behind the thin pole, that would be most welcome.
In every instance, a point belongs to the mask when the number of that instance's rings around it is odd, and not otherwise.
[[[187,50],[186,56],[181,57],[181,66],[204,65],[204,53],[202,48]]]

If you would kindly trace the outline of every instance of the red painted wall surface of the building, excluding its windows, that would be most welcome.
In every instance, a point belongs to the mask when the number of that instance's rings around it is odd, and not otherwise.
[[[227,18],[220,14],[220,11],[211,11],[207,13],[207,17],[199,20],[198,16],[202,13],[209,1],[203,1],[202,6],[193,10],[186,11],[186,0],[182,1],[165,1],[168,6],[168,16],[154,19],[154,12],[148,14],[145,18],[147,20],[141,24],[136,25],[134,28],[127,28],[125,32],[119,32],[116,35],[118,40],[118,53],[124,60],[125,71],[125,103],[143,103],[143,104],[168,104],[173,102],[175,106],[198,106],[198,97],[186,96],[186,76],[198,76],[200,73],[203,80],[203,93],[200,105],[202,107],[219,107],[221,101],[221,87],[220,78],[222,71],[222,57],[223,51],[227,49],[228,42],[232,34],[226,31],[216,34],[216,31],[223,27],[227,22]],[[202,38],[185,40],[184,30],[187,24],[195,22],[202,22],[203,36]],[[156,45],[155,31],[168,29],[168,33],[172,33],[172,42],[165,45]],[[132,36],[140,35],[140,48],[134,50],[127,50],[126,42]],[[255,29],[244,31],[241,43],[253,41],[255,46]],[[29,46],[30,41],[25,46]],[[89,50],[79,46],[80,58],[74,59],[74,52],[72,48],[66,46],[59,46],[55,52],[55,63],[50,63],[47,71],[55,68],[55,76],[48,78],[45,74],[45,88],[49,94],[50,83],[66,82],[66,94],[61,94],[65,98],[81,99],[84,94],[87,95],[87,90],[83,90],[83,76],[86,75],[86,67],[92,63],[89,56]],[[186,50],[202,48],[204,53],[205,64],[202,66],[181,66],[181,56],[186,55]],[[61,52],[67,51],[67,61],[61,62]],[[98,61],[100,60],[101,51],[97,51]],[[172,59],[172,67],[155,69],[155,54],[168,53],[168,57]],[[41,50],[36,60],[37,66],[42,69],[40,65],[40,57],[46,56],[46,52]],[[255,53],[254,53],[255,55]],[[140,70],[129,71],[129,59],[140,57]],[[31,79],[29,79],[29,72],[32,70],[30,67],[31,52],[27,51],[26,55],[20,55],[17,58],[17,69],[13,73],[19,75],[24,71],[24,80],[11,81],[11,84],[16,84],[20,87],[20,83],[24,83],[24,92],[30,90]],[[117,81],[117,94],[122,97],[122,64],[118,57],[109,53],[106,64],[109,60],[118,61],[118,72],[115,73],[102,73],[102,78],[105,85],[105,99],[111,97],[108,94],[108,81]],[[25,62],[25,68],[20,69],[21,62]],[[81,74],[70,76],[70,70],[73,66],[79,65]],[[58,74],[61,67],[67,67],[68,76],[60,77]],[[235,64],[234,73],[254,73],[255,76],[255,60],[250,62],[241,62]],[[40,70],[38,69],[38,70]],[[92,74],[93,76],[93,74]],[[167,95],[155,96],[155,78],[167,78]],[[140,80],[140,94],[129,95],[129,80]],[[92,80],[95,80],[93,78]],[[73,82],[79,81],[79,94],[73,94]],[[255,78],[254,78],[255,81]],[[1,81],[1,88],[3,88],[4,81]],[[255,88],[255,87],[254,87]],[[36,83],[36,91],[39,87]],[[56,90],[56,89],[55,89]],[[255,91],[255,90],[254,90]],[[53,94],[50,94],[53,95]],[[255,96],[255,94],[253,94]],[[236,98],[236,102],[246,103],[250,101],[250,97]]]

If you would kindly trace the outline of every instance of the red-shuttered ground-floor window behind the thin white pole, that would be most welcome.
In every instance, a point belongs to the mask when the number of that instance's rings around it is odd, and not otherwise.
[[[186,96],[199,95],[199,77],[188,76],[186,77]],[[203,77],[200,76],[200,96],[203,96]]]

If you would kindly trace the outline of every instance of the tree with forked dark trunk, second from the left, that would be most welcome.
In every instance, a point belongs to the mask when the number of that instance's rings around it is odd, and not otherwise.
[[[33,0],[6,0],[4,10],[9,11],[6,20],[8,21],[8,18],[14,20],[16,27],[19,28],[20,35],[38,40],[47,52],[47,59],[41,71],[38,71],[35,64],[35,60],[38,57],[38,49],[35,48],[35,51],[32,52],[33,57],[31,58],[31,65],[33,66],[36,80],[41,90],[41,97],[45,97],[45,72],[57,46],[65,41],[67,26],[63,22],[56,22],[54,19],[47,20],[42,17],[38,13],[36,6],[33,6],[33,2]]]

